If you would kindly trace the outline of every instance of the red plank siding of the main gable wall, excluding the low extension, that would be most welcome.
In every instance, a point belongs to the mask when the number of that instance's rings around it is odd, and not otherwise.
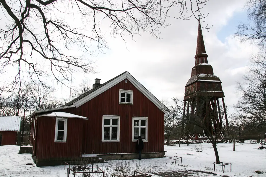
[[[133,105],[119,104],[119,89],[133,90]],[[62,111],[89,118],[84,123],[82,153],[135,153],[133,117],[148,117],[148,142],[144,142],[143,152],[164,150],[164,113],[129,81],[121,81],[78,108]],[[103,115],[120,116],[120,142],[101,141]]]

